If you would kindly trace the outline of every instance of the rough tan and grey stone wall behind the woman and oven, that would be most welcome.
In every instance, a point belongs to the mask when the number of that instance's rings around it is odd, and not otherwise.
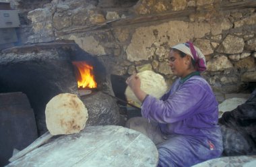
[[[205,54],[203,76],[214,91],[239,92],[256,82],[255,1],[127,2],[53,0],[28,12],[34,34],[26,44],[73,40],[104,59],[110,74],[154,70],[171,84],[168,51],[190,40]]]

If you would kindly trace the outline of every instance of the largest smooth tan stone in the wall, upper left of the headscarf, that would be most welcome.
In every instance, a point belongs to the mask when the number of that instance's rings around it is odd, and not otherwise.
[[[179,29],[176,27],[179,27]],[[157,34],[156,31],[158,32]],[[131,62],[148,60],[154,56],[155,48],[152,47],[153,44],[154,46],[165,45],[170,47],[181,42],[187,42],[191,38],[202,38],[207,33],[210,33],[209,23],[169,21],[160,25],[138,27],[131,38],[131,43],[127,47],[127,59]],[[161,52],[164,51],[162,50]]]

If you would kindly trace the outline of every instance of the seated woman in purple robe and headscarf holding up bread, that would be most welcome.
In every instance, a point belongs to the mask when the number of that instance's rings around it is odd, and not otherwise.
[[[179,78],[160,100],[140,89],[135,74],[127,78],[127,85],[142,103],[142,117],[129,119],[127,127],[148,135],[156,144],[158,166],[192,166],[218,158],[223,150],[218,102],[200,76],[206,69],[205,57],[187,42],[172,47],[168,60]]]

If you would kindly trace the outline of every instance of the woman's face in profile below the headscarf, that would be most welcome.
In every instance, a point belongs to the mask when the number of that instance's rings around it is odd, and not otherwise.
[[[169,56],[169,66],[172,73],[176,76],[184,77],[188,74],[188,65],[186,56],[182,58],[179,52],[170,50]]]

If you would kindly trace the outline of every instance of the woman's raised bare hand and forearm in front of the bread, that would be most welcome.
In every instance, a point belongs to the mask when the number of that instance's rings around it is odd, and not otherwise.
[[[147,94],[140,89],[141,81],[139,79],[139,76],[137,76],[137,74],[133,74],[129,76],[125,82],[131,88],[131,91],[133,91],[137,99],[142,102]]]

